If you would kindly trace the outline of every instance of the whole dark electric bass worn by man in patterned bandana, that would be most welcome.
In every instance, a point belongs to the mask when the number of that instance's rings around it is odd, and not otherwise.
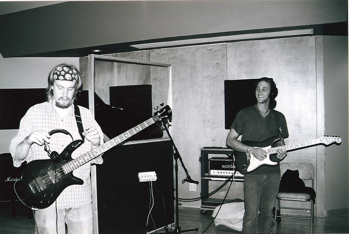
[[[29,162],[25,166],[20,180],[25,202],[28,206],[36,207],[37,209],[49,207],[65,188],[73,184],[83,184],[80,178],[73,175],[74,169],[91,161],[158,120],[170,118],[171,116],[172,111],[166,105],[156,112],[152,118],[82,154],[76,159],[70,157],[69,160],[61,160],[58,163],[54,163],[51,159]]]

